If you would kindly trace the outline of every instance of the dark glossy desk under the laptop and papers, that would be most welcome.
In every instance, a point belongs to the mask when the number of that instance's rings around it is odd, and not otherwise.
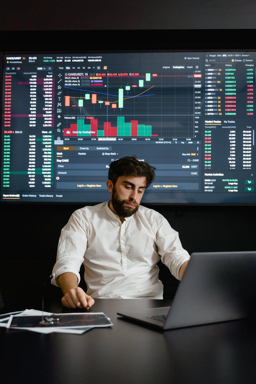
[[[117,316],[124,307],[167,306],[168,300],[96,299],[112,328],[83,335],[0,328],[0,381],[7,383],[254,383],[256,321],[239,320],[172,331]],[[27,308],[40,309],[34,303]],[[25,309],[13,308],[13,310]],[[60,304],[46,311],[64,312]],[[4,377],[4,379],[3,379]]]

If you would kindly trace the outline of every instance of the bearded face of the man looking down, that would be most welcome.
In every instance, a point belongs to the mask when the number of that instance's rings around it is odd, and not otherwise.
[[[110,180],[109,180],[110,181]],[[129,217],[139,209],[147,179],[145,176],[120,176],[112,187],[110,202],[121,217]]]

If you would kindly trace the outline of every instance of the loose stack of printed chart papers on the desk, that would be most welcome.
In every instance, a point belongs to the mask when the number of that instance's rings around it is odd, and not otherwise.
[[[0,327],[24,329],[40,333],[82,334],[95,327],[112,326],[110,319],[102,313],[59,313],[37,310],[5,313],[0,315]]]

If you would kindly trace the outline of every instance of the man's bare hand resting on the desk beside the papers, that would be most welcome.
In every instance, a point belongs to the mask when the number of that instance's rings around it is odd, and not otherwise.
[[[90,308],[94,304],[94,300],[77,286],[66,292],[61,303],[68,308]]]

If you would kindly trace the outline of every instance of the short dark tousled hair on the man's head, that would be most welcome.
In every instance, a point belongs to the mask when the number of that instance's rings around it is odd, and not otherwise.
[[[109,180],[115,185],[119,176],[145,176],[146,188],[155,178],[155,167],[145,161],[139,161],[137,156],[121,157],[109,164]]]

